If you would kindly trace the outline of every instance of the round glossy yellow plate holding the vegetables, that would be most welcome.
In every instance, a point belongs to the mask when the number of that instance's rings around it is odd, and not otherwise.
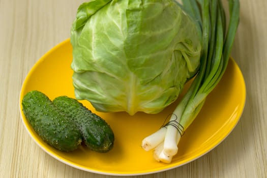
[[[53,149],[35,133],[22,113],[23,96],[32,90],[45,93],[50,99],[67,95],[74,97],[72,85],[72,46],[69,40],[47,52],[29,71],[20,94],[22,122],[29,135],[49,155],[67,165],[108,175],[140,175],[165,171],[189,163],[214,149],[235,127],[243,112],[246,89],[243,75],[231,59],[227,70],[207,97],[195,121],[186,130],[179,143],[179,152],[170,164],[154,160],[153,152],[145,152],[141,141],[157,131],[171,113],[178,100],[159,114],[100,113],[87,101],[82,103],[102,116],[115,135],[113,149],[108,153],[92,152],[86,147],[65,153]]]

